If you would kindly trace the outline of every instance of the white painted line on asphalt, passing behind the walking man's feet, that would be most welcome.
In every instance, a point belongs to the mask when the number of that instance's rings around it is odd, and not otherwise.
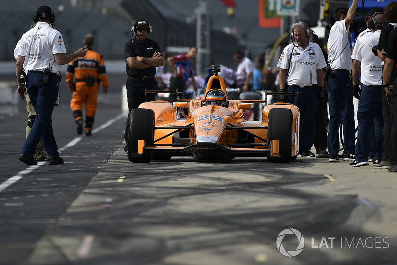
[[[118,116],[116,116],[115,118],[109,120],[108,122],[106,122],[105,124],[101,125],[100,127],[98,127],[97,129],[94,129],[92,132],[96,133],[99,132],[100,130],[105,129],[106,127],[109,127],[110,125],[112,125],[114,122],[118,121],[119,119],[123,118],[124,115],[123,114],[119,114]],[[58,152],[62,152],[64,150],[66,150],[67,148],[74,146],[76,143],[78,143],[78,141],[80,141],[82,138],[80,137],[76,137],[74,138],[72,141],[70,141],[68,144],[66,144],[66,146],[61,147],[58,149]],[[27,169],[17,173],[16,175],[8,178],[7,180],[5,180],[3,183],[0,184],[0,193],[6,189],[7,187],[11,186],[12,184],[14,184],[15,182],[17,182],[19,179],[21,179],[24,175],[32,172],[33,170],[37,169],[38,167],[40,167],[41,165],[45,164],[46,161],[41,161],[39,163],[37,163],[37,165],[33,165],[28,167]]]

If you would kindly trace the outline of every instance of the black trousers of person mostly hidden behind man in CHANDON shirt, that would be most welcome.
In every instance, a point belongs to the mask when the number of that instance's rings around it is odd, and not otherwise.
[[[317,108],[315,116],[314,127],[314,147],[318,153],[320,150],[327,149],[327,90],[324,91],[324,96],[317,96]]]

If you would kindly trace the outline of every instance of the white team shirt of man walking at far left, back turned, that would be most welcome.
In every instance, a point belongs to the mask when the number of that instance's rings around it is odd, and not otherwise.
[[[38,22],[34,28],[22,35],[18,56],[25,56],[25,70],[44,71],[50,67],[52,73],[58,73],[59,65],[54,57],[57,53],[66,53],[64,39],[48,23]]]

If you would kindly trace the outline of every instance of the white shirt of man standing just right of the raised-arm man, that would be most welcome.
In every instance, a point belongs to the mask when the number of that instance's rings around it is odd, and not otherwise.
[[[382,60],[372,53],[372,47],[379,41],[381,31],[366,33],[357,38],[356,46],[353,49],[352,59],[361,61],[361,83],[366,86],[382,85]]]

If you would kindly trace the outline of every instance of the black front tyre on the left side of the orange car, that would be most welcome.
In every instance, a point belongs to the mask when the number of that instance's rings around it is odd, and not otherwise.
[[[152,152],[138,153],[138,140],[146,141],[146,145],[153,144],[154,139],[154,111],[145,108],[134,108],[130,113],[130,128],[128,131],[128,160],[133,163],[150,163]]]

